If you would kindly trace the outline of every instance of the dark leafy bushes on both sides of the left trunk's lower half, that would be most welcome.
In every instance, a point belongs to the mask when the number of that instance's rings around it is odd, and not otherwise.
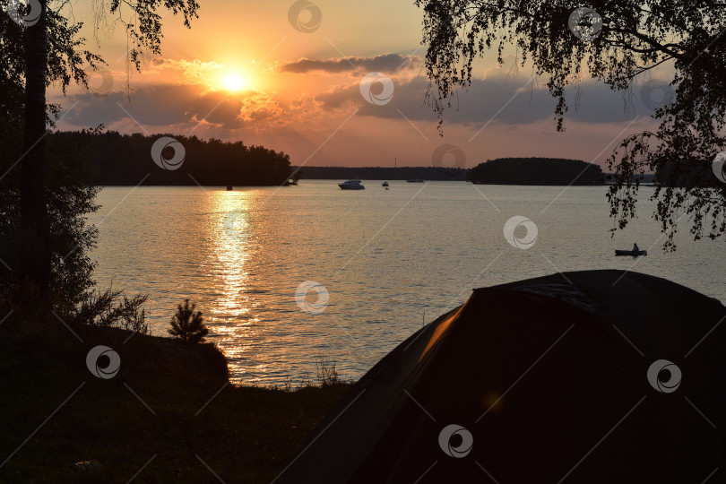
[[[21,103],[22,106],[22,103]],[[12,111],[4,112],[4,115]],[[0,117],[3,115],[0,114]],[[21,126],[21,127],[19,127]],[[22,129],[22,125],[6,125],[5,134]],[[96,245],[98,230],[88,217],[98,210],[95,203],[99,187],[91,186],[88,160],[90,145],[82,137],[48,138],[48,256],[51,262],[48,275],[48,293],[43,304],[60,315],[73,315],[74,311],[91,296],[95,284],[90,252]],[[8,297],[19,285],[26,289],[32,282],[19,281],[21,246],[20,173],[12,169],[22,155],[17,139],[3,143],[0,151],[0,170],[7,175],[0,180],[0,296]],[[37,285],[37,284],[36,284]],[[39,301],[36,301],[36,307]]]

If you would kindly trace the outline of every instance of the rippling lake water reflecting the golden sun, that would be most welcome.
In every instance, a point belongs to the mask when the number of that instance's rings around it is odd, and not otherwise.
[[[113,281],[149,294],[158,335],[190,298],[209,340],[229,358],[233,381],[247,385],[315,380],[319,358],[357,379],[471,289],[557,271],[632,269],[726,301],[723,242],[694,242],[684,226],[678,252],[664,253],[649,202],[610,238],[606,187],[393,181],[385,190],[364,181],[366,190],[341,191],[336,183],[230,192],[108,187],[91,219],[99,227],[99,287]],[[641,199],[652,190],[643,188]],[[505,238],[514,216],[536,226],[528,249]],[[514,232],[520,245],[530,227]],[[634,242],[647,257],[613,255]],[[316,305],[320,286],[298,304],[306,281],[324,287],[326,306]]]

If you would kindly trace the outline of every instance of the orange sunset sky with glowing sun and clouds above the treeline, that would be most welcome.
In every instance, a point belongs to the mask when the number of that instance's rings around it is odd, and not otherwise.
[[[97,41],[91,2],[74,4],[87,47],[104,57],[108,73],[91,76],[91,92],[74,87],[63,98],[50,91],[70,109],[58,127],[241,140],[309,166],[393,166],[394,157],[399,166],[428,166],[436,147],[451,143],[465,153],[466,168],[506,156],[602,163],[625,135],[653,127],[653,101],[640,101],[643,90],[634,90],[627,111],[621,93],[585,80],[566,133],[557,133],[546,79],[530,82],[531,70],[512,68],[510,52],[503,68],[493,56],[480,61],[471,89],[445,114],[442,138],[424,105],[422,13],[412,0],[318,0],[297,16],[290,0],[199,3],[191,30],[164,16],[162,56],[148,57],[143,72],[132,74],[130,100],[123,29],[110,24]],[[372,96],[364,99],[361,81],[369,73],[390,82],[369,84]],[[657,73],[652,82],[660,82]]]

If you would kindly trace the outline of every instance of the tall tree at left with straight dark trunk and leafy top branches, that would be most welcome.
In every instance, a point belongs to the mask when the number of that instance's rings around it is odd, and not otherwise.
[[[156,11],[160,7],[168,8],[175,15],[184,17],[186,27],[196,17],[198,4],[194,0],[111,0],[106,4],[103,0],[92,0],[96,13],[94,27],[101,28],[105,22],[104,8],[112,22],[121,22],[125,27],[129,43],[127,60],[137,70],[141,68],[143,51],[160,54],[161,17]],[[16,0],[13,8],[20,4]],[[32,22],[23,22],[28,17],[30,5],[39,5],[39,17]],[[53,4],[54,8],[49,8]],[[50,278],[50,249],[48,245],[49,221],[47,203],[47,162],[46,162],[46,127],[48,124],[46,86],[58,82],[63,90],[70,82],[79,82],[87,86],[87,76],[82,70],[83,63],[98,68],[102,59],[91,52],[82,50],[85,39],[78,38],[80,23],[71,20],[72,8],[68,2],[37,0],[30,5],[22,5],[19,13],[10,14],[10,4],[4,0],[6,11],[4,22],[11,27],[7,39],[20,39],[14,45],[18,48],[15,54],[20,56],[5,57],[9,71],[22,69],[24,65],[24,117],[23,117],[23,155],[21,161],[21,254],[20,278],[28,279],[39,285],[42,291],[48,290]],[[65,12],[65,14],[64,14]],[[64,16],[65,15],[65,16]],[[13,17],[16,27],[10,26],[8,19]],[[129,19],[125,21],[124,19]],[[23,40],[24,39],[24,40]],[[3,41],[6,42],[5,33]],[[8,42],[13,45],[13,40]],[[15,82],[23,79],[15,78]]]

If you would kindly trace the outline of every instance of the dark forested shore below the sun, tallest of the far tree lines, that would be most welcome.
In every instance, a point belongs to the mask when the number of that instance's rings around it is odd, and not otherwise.
[[[263,146],[227,143],[218,139],[175,134],[98,134],[88,131],[60,132],[51,139],[82,141],[88,146],[91,185],[97,186],[204,186],[281,185],[292,174],[290,156]],[[164,169],[154,162],[152,145],[163,136],[183,147],[183,161],[177,169]],[[180,150],[177,145],[177,150]],[[177,151],[164,148],[161,156],[174,160]],[[176,166],[175,166],[176,168]],[[143,180],[143,182],[142,182]]]

